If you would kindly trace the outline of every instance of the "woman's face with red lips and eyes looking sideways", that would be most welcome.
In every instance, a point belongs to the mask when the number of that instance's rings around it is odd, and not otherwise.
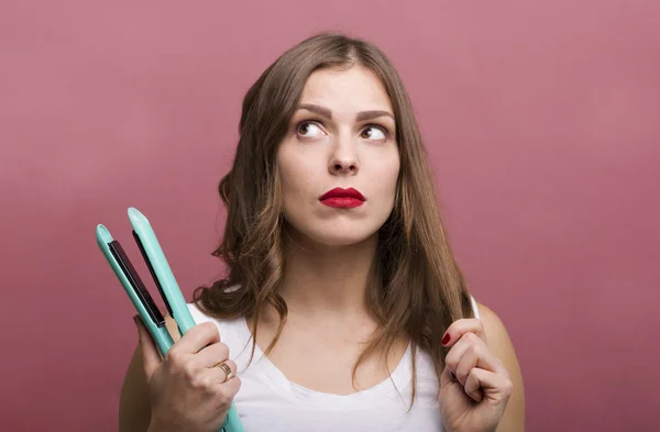
[[[394,111],[369,69],[321,69],[307,80],[277,151],[285,219],[331,246],[371,237],[394,207],[399,173]]]

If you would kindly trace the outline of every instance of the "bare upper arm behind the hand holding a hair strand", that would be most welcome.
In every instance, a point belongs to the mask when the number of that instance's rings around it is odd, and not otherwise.
[[[525,390],[522,388],[522,374],[520,373],[520,365],[518,364],[514,345],[504,323],[497,314],[484,304],[479,303],[477,307],[486,332],[488,347],[499,358],[514,384],[514,390],[497,428],[497,432],[524,432]]]

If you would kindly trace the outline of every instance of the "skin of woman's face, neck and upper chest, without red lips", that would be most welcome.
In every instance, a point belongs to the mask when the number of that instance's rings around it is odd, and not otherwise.
[[[277,153],[287,221],[280,295],[289,313],[268,358],[296,384],[348,395],[356,391],[351,374],[362,342],[376,326],[364,290],[377,231],[394,207],[396,122],[381,81],[360,68],[312,74],[299,106]],[[336,187],[355,188],[366,201],[350,210],[319,202]],[[277,322],[267,311],[257,332],[261,347],[274,337]],[[367,358],[358,389],[385,380],[406,345],[398,341],[386,363]]]

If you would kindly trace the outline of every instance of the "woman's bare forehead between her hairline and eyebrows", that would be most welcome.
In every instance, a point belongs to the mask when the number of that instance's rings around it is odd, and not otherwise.
[[[381,79],[372,70],[358,66],[345,70],[314,71],[305,84],[300,103],[320,104],[339,114],[374,109],[393,110]]]

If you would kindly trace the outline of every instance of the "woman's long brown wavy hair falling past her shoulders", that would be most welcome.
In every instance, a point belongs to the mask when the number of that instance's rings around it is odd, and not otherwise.
[[[218,187],[227,207],[227,223],[213,256],[227,263],[228,276],[197,288],[194,299],[210,317],[252,318],[253,340],[263,308],[275,308],[280,323],[265,352],[275,345],[287,317],[286,302],[278,293],[286,261],[276,152],[310,74],[353,66],[372,70],[385,86],[394,108],[400,157],[394,209],[378,232],[366,291],[380,325],[355,363],[353,379],[361,362],[370,354],[387,353],[402,334],[413,347],[413,370],[420,348],[432,357],[440,379],[448,352],[441,337],[457,319],[474,317],[470,292],[442,224],[426,151],[402,79],[380,48],[360,38],[341,33],[309,37],[285,52],[249,89],[234,163]],[[414,400],[415,375],[413,379]]]

